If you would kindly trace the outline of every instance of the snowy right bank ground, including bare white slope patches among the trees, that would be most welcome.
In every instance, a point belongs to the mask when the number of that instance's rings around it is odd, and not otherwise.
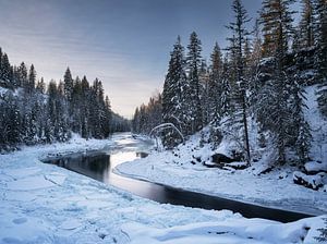
[[[315,162],[322,162],[318,164],[327,164],[327,122],[319,117],[315,91],[316,86],[306,88],[308,109],[305,118],[310,122],[314,139],[311,158]],[[255,135],[255,129],[252,132]],[[277,168],[269,173],[259,174],[270,161],[269,149],[262,152],[261,160],[245,170],[206,168],[196,159],[210,163],[209,158],[214,151],[208,144],[201,146],[201,137],[199,134],[192,136],[185,145],[180,145],[173,151],[154,152],[145,159],[122,163],[116,168],[116,172],[264,206],[313,215],[327,213],[326,183],[319,191],[294,184],[295,167]],[[255,141],[256,138],[251,138],[252,145]],[[229,155],[233,146],[235,145],[225,139],[215,152]],[[311,162],[307,166],[313,168],[316,164]]]

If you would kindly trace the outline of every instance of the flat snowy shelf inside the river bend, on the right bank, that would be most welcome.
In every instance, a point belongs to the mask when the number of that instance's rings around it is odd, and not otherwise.
[[[185,147],[180,147],[178,156],[170,151],[155,152],[119,164],[116,171],[209,195],[313,215],[327,213],[327,194],[294,184],[291,175],[295,168],[275,169],[261,175],[257,175],[255,166],[235,171],[206,168],[201,163],[190,163],[194,161],[192,149]]]

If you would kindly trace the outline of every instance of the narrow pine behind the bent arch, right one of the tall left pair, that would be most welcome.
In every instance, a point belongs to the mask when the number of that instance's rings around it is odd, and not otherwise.
[[[202,129],[202,107],[199,100],[199,77],[198,72],[201,68],[201,40],[197,34],[193,32],[190,36],[190,44],[187,46],[186,56],[186,69],[189,87],[183,90],[184,103],[189,106],[186,113],[187,123],[190,123],[190,130],[187,134],[194,134]]]

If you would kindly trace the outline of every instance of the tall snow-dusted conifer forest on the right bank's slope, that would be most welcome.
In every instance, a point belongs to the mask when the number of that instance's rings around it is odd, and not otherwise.
[[[244,159],[250,162],[249,120],[255,120],[259,145],[271,142],[276,161],[286,161],[287,148],[296,152],[299,161],[307,160],[312,135],[304,119],[306,86],[318,84],[319,110],[327,118],[327,3],[301,0],[301,21],[295,26],[294,2],[263,0],[249,29],[251,19],[242,1],[234,0],[233,21],[227,26],[229,45],[221,50],[216,42],[208,64],[195,32],[186,54],[178,37],[158,100],[160,120],[140,120],[141,110],[143,118],[153,113],[153,106],[143,105],[135,111],[133,130],[146,133],[154,124],[173,123],[187,136],[209,125],[218,144],[225,125],[241,132]],[[167,131],[162,143],[172,148],[180,137]]]

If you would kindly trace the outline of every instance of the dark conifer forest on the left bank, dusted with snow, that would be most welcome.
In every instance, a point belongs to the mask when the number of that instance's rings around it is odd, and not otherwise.
[[[101,81],[72,77],[68,68],[63,81],[37,80],[32,64],[11,65],[0,48],[0,149],[21,144],[65,142],[72,133],[83,138],[106,138],[129,131],[129,121],[113,113]]]

